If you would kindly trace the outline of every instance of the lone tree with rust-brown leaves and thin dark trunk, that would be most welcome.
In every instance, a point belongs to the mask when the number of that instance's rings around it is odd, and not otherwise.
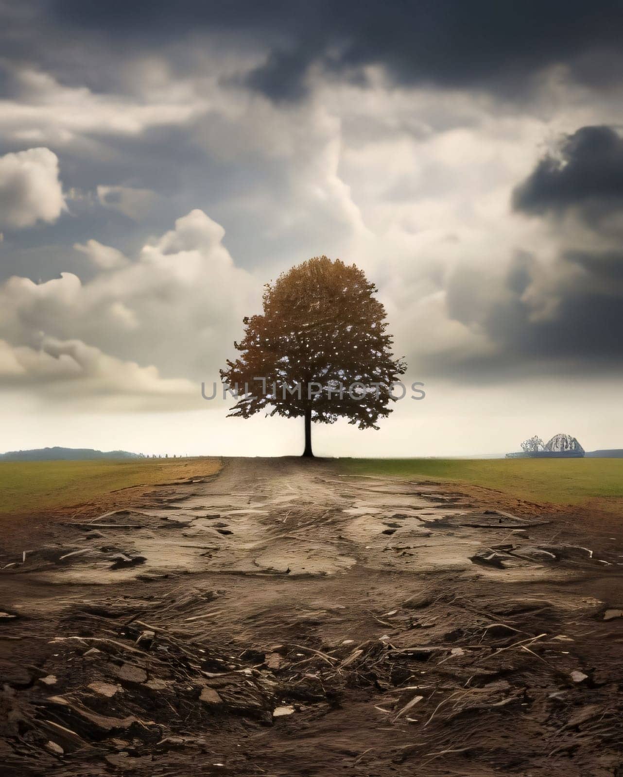
[[[391,385],[405,370],[391,352],[385,308],[362,270],[317,256],[264,287],[264,313],[245,317],[240,357],[222,382],[236,396],[230,416],[305,419],[305,451],[313,456],[311,423],[345,416],[378,429],[395,401]]]

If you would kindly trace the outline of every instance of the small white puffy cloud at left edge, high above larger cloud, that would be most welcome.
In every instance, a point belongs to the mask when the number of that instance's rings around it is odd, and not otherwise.
[[[58,172],[58,157],[49,148],[0,157],[0,223],[24,228],[56,221],[65,210]]]

